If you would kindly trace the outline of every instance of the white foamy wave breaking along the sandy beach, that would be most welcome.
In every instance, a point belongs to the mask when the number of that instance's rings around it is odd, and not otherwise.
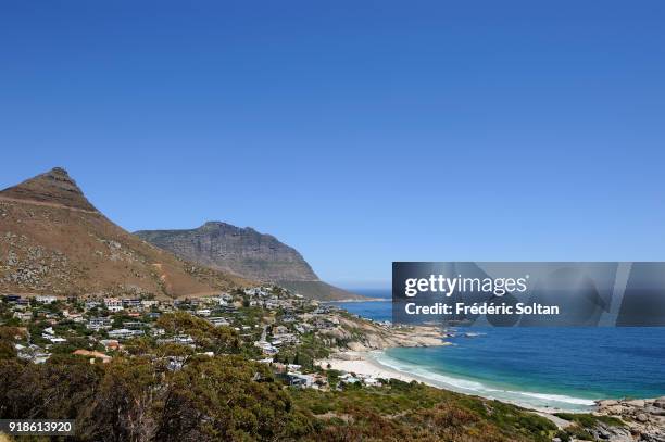
[[[594,401],[590,399],[575,397],[565,394],[501,389],[482,383],[478,380],[454,377],[449,374],[444,375],[440,371],[434,371],[430,367],[405,363],[388,356],[385,352],[373,353],[372,358],[379,365],[401,371],[405,375],[411,375],[435,387],[446,388],[460,393],[476,394],[491,400],[511,402],[525,407],[579,412],[588,411],[595,404]]]

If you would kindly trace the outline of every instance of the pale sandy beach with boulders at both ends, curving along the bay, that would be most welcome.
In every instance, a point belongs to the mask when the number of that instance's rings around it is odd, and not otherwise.
[[[386,301],[378,299],[377,301]],[[355,301],[357,302],[357,301]],[[361,315],[359,315],[361,316]],[[364,315],[361,317],[365,317]],[[346,318],[339,318],[346,324]],[[359,324],[346,324],[351,328],[359,328]],[[447,374],[427,365],[402,361],[399,355],[387,354],[389,349],[432,348],[454,345],[446,339],[447,330],[440,327],[412,326],[386,327],[379,323],[362,325],[364,339],[348,342],[344,350],[331,354],[328,358],[317,362],[322,368],[336,369],[347,374],[356,375],[361,379],[375,382],[378,378],[398,379],[404,382],[421,382],[429,387],[460,393],[467,396],[482,397],[500,403],[518,406],[553,422],[560,430],[565,430],[575,420],[567,420],[567,416],[597,416],[620,419],[624,427],[603,426],[599,420],[594,434],[622,438],[629,433],[644,434],[647,437],[663,437],[665,440],[665,396],[657,399],[629,400],[607,399],[611,396],[597,395],[589,397],[570,393],[542,392],[548,391],[535,387],[520,388],[494,384],[490,381],[475,379],[469,372],[468,377],[459,374]],[[497,379],[500,381],[500,379]],[[616,396],[615,396],[616,397]],[[626,395],[628,397],[628,395]],[[653,396],[652,396],[653,397]],[[590,417],[589,417],[590,418]],[[628,432],[629,431],[629,432]],[[623,439],[616,439],[623,440]],[[649,439],[648,439],[649,440]],[[654,439],[660,440],[660,439]]]

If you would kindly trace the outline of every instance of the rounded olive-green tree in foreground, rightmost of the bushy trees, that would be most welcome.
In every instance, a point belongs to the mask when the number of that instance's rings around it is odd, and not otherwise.
[[[167,380],[160,441],[275,440],[291,400],[267,367],[239,356],[195,361]]]

